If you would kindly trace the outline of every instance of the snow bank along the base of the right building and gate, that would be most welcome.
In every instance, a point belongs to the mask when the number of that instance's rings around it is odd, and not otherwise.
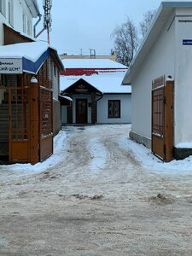
[[[143,167],[150,171],[166,172],[167,174],[192,172],[192,156],[184,160],[172,160],[166,163],[155,157],[150,149],[144,147],[142,144],[135,143],[130,138],[122,137],[119,140],[119,146],[131,151],[136,159],[142,163]]]

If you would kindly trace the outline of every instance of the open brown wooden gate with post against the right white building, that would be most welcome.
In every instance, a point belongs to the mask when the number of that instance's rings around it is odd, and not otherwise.
[[[173,81],[152,83],[152,152],[165,161],[173,157]]]

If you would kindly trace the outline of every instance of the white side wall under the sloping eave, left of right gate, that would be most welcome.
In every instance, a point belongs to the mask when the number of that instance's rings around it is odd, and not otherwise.
[[[132,119],[131,130],[143,137],[151,138],[151,89],[152,80],[166,75],[174,78],[175,61],[175,21],[167,31],[172,17],[141,67],[132,79]]]

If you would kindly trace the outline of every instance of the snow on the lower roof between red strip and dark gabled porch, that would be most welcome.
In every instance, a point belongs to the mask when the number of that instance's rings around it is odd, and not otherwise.
[[[111,73],[111,74],[94,74],[91,76],[61,76],[60,87],[61,90],[66,90],[79,79],[84,79],[87,83],[92,85],[102,92],[107,93],[131,93],[131,85],[122,86],[122,80],[125,73]]]

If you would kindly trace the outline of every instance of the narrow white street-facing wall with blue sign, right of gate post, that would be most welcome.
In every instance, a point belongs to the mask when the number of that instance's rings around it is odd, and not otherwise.
[[[192,39],[192,9],[177,10],[182,14],[186,17],[176,18],[175,145],[192,142],[192,45],[183,45],[183,39]]]

